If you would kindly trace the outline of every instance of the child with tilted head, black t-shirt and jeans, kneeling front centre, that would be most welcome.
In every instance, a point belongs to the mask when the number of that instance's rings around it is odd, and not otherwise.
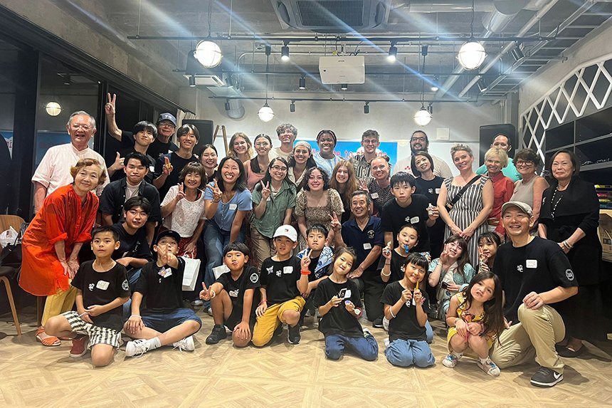
[[[357,261],[352,249],[346,246],[334,253],[332,276],[319,284],[315,307],[319,308],[319,330],[325,335],[325,355],[339,360],[344,347],[357,352],[364,360],[374,361],[379,345],[369,330],[362,328],[362,299],[359,287],[347,274]]]

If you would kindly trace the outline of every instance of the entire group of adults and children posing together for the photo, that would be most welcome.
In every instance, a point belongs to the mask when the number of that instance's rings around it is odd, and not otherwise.
[[[419,130],[391,172],[375,130],[344,159],[332,130],[318,133],[313,154],[283,124],[280,147],[238,132],[219,160],[169,113],[130,133],[115,123],[114,96],[105,112],[122,146],[114,162],[88,147],[95,119],[79,111],[66,125],[70,144],[49,149],[33,176],[20,285],[47,296],[43,345],[71,339],[70,355],[90,347],[97,366],[112,361],[122,330],[134,339],[127,356],[194,350],[201,318],[188,300],[213,317],[209,345],[229,328],[236,347],[263,347],[283,325],[297,344],[317,316],[327,357],[349,349],[375,360],[365,317],[389,331],[392,365],[428,367],[428,320],[438,318],[449,328],[446,367],[468,347],[494,376],[535,356],[532,384],[552,386],[559,356],[601,335],[584,319],[601,301],[598,199],[572,152],[552,157],[549,184],[535,152],[512,160],[510,138],[498,135],[476,172],[470,147],[454,145],[453,177]],[[203,261],[201,290],[182,290],[185,258]]]

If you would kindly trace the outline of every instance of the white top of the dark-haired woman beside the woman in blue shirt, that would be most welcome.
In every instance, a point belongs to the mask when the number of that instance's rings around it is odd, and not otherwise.
[[[176,194],[179,194],[179,186],[170,187],[164,201],[162,201],[162,206],[171,202]],[[167,229],[174,229],[181,238],[189,238],[194,235],[198,221],[201,219],[204,219],[204,192],[194,202],[184,198],[176,203],[172,214],[164,218],[163,225]]]

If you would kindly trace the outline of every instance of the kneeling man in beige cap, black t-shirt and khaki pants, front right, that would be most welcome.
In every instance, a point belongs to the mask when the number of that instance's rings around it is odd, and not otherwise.
[[[511,241],[498,249],[493,271],[502,283],[510,328],[493,343],[491,359],[505,368],[535,358],[540,368],[531,384],[552,387],[563,380],[564,363],[554,346],[565,337],[554,303],[576,295],[578,283],[559,244],[529,235],[534,225],[529,205],[505,203],[502,223]]]

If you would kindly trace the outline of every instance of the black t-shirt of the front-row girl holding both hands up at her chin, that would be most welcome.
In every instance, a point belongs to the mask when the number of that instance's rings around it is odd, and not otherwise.
[[[421,282],[421,286],[424,286],[424,282]],[[395,305],[395,303],[401,298],[401,292],[403,286],[399,282],[389,283],[384,289],[384,293],[381,298],[381,303],[385,305]],[[423,299],[423,312],[429,313],[429,299],[426,291],[421,291]],[[393,342],[397,339],[402,340],[426,340],[427,335],[425,333],[425,326],[418,324],[416,319],[416,308],[414,299],[406,302],[406,305],[402,305],[396,317],[389,320],[389,342]]]

